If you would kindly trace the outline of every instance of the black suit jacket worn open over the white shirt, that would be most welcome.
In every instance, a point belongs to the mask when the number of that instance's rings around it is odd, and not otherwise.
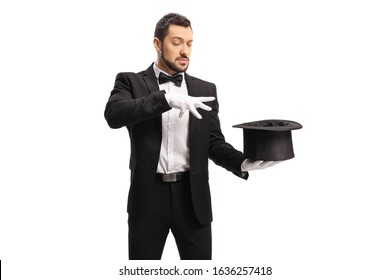
[[[218,118],[217,92],[214,84],[185,74],[188,94],[191,96],[214,96],[207,103],[212,111],[198,110],[199,120],[190,114],[190,182],[195,214],[201,224],[212,221],[211,198],[208,182],[208,159],[232,171],[241,173],[245,156],[225,142]],[[155,174],[162,139],[161,114],[171,110],[159,90],[153,67],[140,73],[119,73],[105,109],[105,118],[111,128],[126,126],[131,143],[131,186],[128,212],[136,215],[144,207],[153,191]]]

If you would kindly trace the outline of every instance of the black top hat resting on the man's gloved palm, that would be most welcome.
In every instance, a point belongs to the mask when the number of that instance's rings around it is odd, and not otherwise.
[[[244,129],[244,154],[251,160],[278,161],[294,157],[291,130],[302,125],[288,120],[237,124]]]

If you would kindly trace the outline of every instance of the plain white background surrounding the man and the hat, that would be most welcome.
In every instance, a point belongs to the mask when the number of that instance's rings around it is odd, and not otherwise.
[[[4,279],[127,279],[124,265],[174,264],[389,279],[386,2],[2,1]],[[216,83],[228,142],[242,149],[232,126],[247,121],[303,129],[294,159],[248,181],[210,162],[213,261],[179,261],[170,236],[163,261],[130,263],[129,140],[103,111],[118,72],[155,60],[154,27],[171,11],[192,21],[188,73]]]

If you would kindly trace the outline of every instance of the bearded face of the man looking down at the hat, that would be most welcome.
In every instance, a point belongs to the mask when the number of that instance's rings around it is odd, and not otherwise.
[[[157,50],[157,67],[171,75],[185,72],[190,63],[192,41],[190,27],[170,25],[162,43],[157,38],[153,41]]]

